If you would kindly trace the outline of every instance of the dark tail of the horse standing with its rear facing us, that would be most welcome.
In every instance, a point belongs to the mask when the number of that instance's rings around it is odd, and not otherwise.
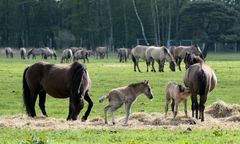
[[[200,70],[200,73],[198,75],[198,82],[199,82],[199,95],[204,95],[207,92],[207,77],[204,73],[203,69]]]

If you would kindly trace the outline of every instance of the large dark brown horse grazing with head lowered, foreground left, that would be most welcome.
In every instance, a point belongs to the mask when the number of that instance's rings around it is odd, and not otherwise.
[[[23,99],[28,116],[35,117],[35,102],[39,95],[39,107],[43,115],[48,116],[45,110],[46,94],[54,98],[69,98],[69,113],[67,120],[76,120],[83,108],[84,100],[88,108],[82,117],[86,121],[91,112],[93,102],[88,94],[91,80],[83,64],[74,62],[69,65],[49,64],[37,62],[24,70]]]

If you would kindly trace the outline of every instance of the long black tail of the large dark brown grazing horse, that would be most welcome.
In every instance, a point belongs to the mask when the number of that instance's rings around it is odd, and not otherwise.
[[[29,67],[27,67],[23,72],[23,102],[24,102],[24,106],[26,107],[27,114],[31,115],[30,89],[28,87],[28,84],[25,78],[28,68]]]

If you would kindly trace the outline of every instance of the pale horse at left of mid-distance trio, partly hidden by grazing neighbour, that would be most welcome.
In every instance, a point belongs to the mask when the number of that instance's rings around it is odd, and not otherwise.
[[[139,59],[146,60],[145,52],[150,46],[137,45],[131,50],[132,61],[133,61],[133,70],[136,72],[136,67],[138,72],[141,72],[138,66]]]

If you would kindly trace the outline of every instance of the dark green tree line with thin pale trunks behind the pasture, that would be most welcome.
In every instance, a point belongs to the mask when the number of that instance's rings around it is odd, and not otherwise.
[[[4,0],[0,47],[239,42],[238,0]]]

